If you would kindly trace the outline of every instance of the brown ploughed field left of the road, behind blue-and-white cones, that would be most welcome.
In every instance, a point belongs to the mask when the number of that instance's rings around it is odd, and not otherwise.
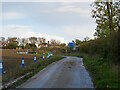
[[[31,54],[18,54],[16,51],[27,51],[16,50],[16,49],[2,49],[2,63],[4,74],[2,76],[3,84],[16,79],[19,76],[24,75],[27,72],[32,71],[32,66],[35,64],[34,55]],[[21,67],[22,57],[24,57],[25,67]],[[36,55],[36,63],[42,60],[42,56]]]

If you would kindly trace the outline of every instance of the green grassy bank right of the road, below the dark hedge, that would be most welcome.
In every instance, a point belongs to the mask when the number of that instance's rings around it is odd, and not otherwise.
[[[110,64],[103,58],[91,58],[85,54],[69,55],[83,57],[84,65],[96,88],[118,88],[118,65]]]

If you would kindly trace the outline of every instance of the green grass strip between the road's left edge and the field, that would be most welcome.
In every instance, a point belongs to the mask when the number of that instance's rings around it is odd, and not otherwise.
[[[24,70],[21,70],[19,72],[22,72],[24,75],[28,72],[31,72],[29,75],[26,75],[24,78],[18,80],[16,83],[12,84],[11,86],[7,87],[7,88],[13,88],[13,87],[17,87],[19,85],[21,85],[23,82],[25,82],[27,79],[29,79],[30,77],[32,77],[33,75],[35,75],[36,73],[38,73],[40,70],[42,70],[43,68],[45,68],[46,66],[48,66],[49,64],[61,60],[63,59],[63,57],[61,56],[53,56],[49,59],[46,60],[38,60],[37,63],[33,63],[28,67],[24,68]]]

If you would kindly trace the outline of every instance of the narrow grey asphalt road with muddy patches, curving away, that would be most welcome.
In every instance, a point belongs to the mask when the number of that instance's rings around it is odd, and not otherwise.
[[[44,68],[18,88],[94,88],[82,58],[67,56]]]

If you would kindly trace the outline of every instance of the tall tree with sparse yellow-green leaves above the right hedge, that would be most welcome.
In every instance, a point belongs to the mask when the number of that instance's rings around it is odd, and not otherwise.
[[[96,19],[97,28],[95,36],[104,37],[118,31],[118,2],[104,0],[103,2],[94,2],[92,17]]]

